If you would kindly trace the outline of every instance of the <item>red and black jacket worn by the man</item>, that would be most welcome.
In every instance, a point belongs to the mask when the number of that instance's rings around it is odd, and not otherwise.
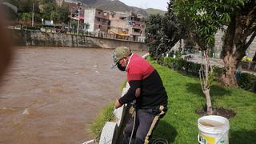
[[[136,99],[138,108],[151,108],[167,105],[167,94],[158,71],[144,58],[132,54],[126,67],[130,89],[119,99],[121,104]],[[135,97],[135,90],[141,88],[141,94]]]

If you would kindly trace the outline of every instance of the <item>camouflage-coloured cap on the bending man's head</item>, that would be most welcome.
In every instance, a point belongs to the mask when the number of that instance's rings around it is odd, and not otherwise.
[[[114,66],[117,66],[118,61],[120,61],[122,58],[127,57],[131,54],[131,50],[126,47],[126,46],[118,46],[114,49],[113,52],[113,65],[112,68],[114,68]]]

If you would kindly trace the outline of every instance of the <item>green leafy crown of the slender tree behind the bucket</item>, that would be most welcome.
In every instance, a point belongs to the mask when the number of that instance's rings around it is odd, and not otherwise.
[[[206,50],[214,46],[214,34],[218,28],[222,28],[222,23],[230,22],[227,13],[230,10],[229,3],[230,1],[221,0],[176,0],[174,1],[174,10],[180,18],[183,18],[184,22],[190,24],[189,29],[200,49]],[[223,9],[222,13],[217,11],[218,9]]]

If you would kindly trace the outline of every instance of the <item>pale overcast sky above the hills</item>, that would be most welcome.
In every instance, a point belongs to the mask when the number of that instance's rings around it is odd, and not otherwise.
[[[154,8],[167,11],[167,2],[170,0],[119,0],[128,6],[136,6],[142,9]]]

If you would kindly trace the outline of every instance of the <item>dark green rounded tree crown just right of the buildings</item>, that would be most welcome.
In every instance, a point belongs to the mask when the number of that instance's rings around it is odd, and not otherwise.
[[[146,44],[150,48],[151,58],[158,59],[184,36],[185,28],[173,13],[172,2],[168,3],[168,11],[164,16],[150,15],[146,23]]]

